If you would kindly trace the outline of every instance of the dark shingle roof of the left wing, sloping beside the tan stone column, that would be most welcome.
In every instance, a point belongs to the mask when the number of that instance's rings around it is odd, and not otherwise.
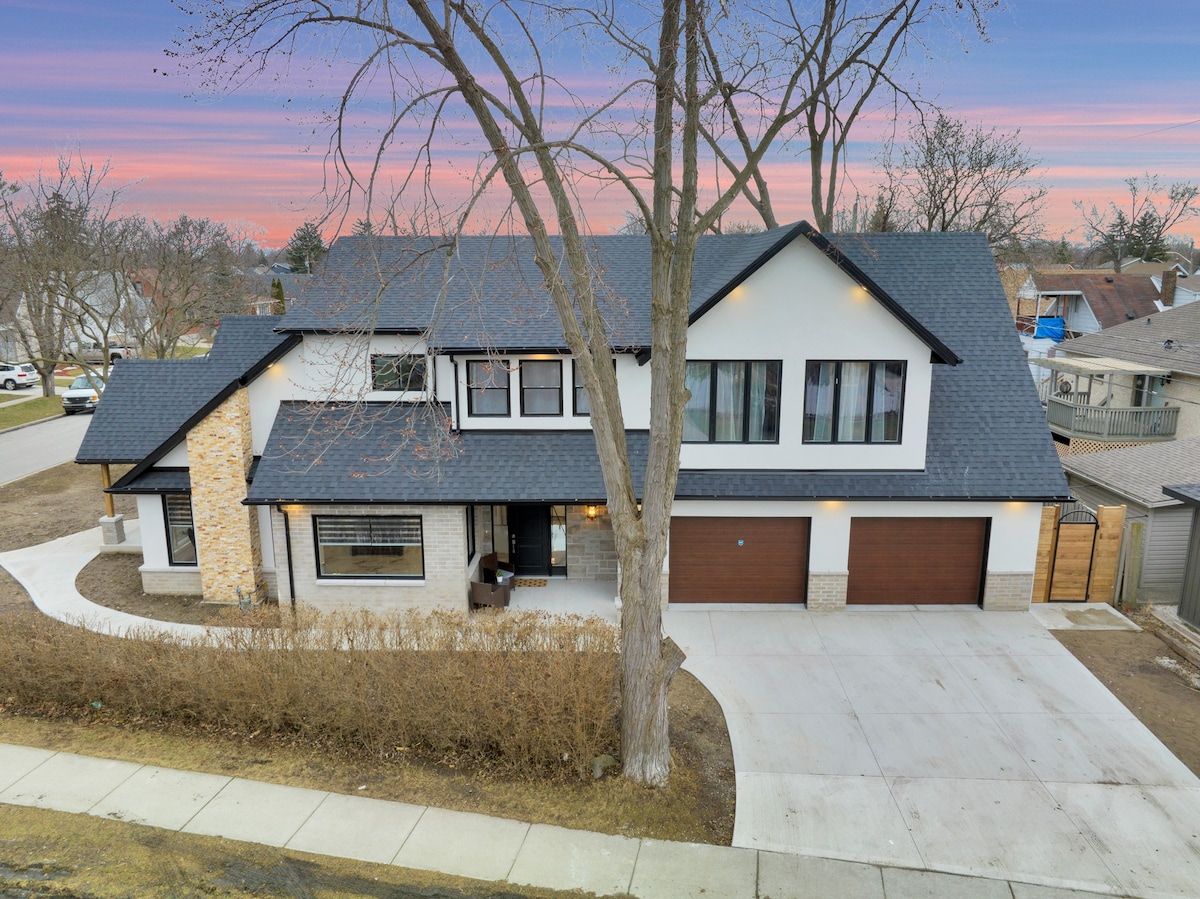
[[[134,462],[137,477],[239,385],[299,343],[278,316],[228,316],[206,356],[128,359],[113,366],[76,462]]]

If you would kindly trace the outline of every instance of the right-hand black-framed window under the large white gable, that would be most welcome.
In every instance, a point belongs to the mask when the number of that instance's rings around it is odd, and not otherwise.
[[[905,362],[809,362],[805,443],[899,443]]]

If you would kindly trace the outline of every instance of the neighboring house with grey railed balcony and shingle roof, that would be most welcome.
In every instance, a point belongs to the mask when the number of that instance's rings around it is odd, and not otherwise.
[[[1064,341],[1038,364],[1063,455],[1200,437],[1200,304]]]

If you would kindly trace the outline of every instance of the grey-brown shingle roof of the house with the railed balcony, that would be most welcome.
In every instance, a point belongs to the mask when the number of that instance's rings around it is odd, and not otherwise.
[[[1200,374],[1200,302],[1063,341],[1058,352],[1112,356],[1166,371]]]

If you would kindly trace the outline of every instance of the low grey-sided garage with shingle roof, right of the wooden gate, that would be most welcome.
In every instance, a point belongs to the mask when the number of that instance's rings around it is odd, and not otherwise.
[[[1200,478],[1200,439],[1127,446],[1063,459],[1070,492],[1079,502],[1124,504],[1126,521],[1144,523],[1136,562],[1126,562],[1126,576],[1140,563],[1139,600],[1177,603],[1188,556],[1192,509],[1164,493],[1164,484]],[[1134,547],[1128,550],[1136,552]]]

